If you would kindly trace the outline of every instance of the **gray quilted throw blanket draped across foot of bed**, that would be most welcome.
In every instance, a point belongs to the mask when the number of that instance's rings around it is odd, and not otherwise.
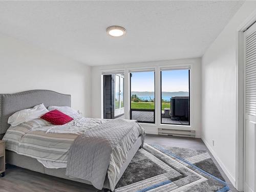
[[[143,128],[136,121],[125,119],[110,120],[87,130],[70,148],[66,175],[88,180],[94,187],[102,189],[113,154],[124,154],[115,157],[121,161],[116,164],[121,165],[140,135],[144,141]],[[115,178],[110,179],[112,190],[115,185]]]

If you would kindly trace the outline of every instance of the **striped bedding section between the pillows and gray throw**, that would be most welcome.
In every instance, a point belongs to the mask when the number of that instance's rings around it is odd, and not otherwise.
[[[38,160],[67,163],[68,153],[75,138],[108,120],[82,118],[65,125],[52,125],[34,119],[18,126],[10,126],[3,140],[6,149]]]

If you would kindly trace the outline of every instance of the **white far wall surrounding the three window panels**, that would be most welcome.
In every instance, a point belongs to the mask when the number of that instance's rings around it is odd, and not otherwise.
[[[201,137],[201,59],[200,58],[190,58],[190,59],[177,59],[177,60],[166,60],[166,61],[152,61],[152,62],[139,62],[139,63],[128,63],[123,65],[112,65],[112,66],[97,66],[92,67],[92,117],[94,118],[101,118],[102,117],[102,79],[101,74],[102,71],[106,70],[124,70],[125,75],[129,75],[128,71],[129,69],[135,69],[135,68],[144,68],[144,67],[150,67],[156,69],[156,101],[159,98],[160,101],[160,95],[157,95],[157,92],[160,93],[160,81],[157,81],[157,76],[160,74],[159,67],[160,66],[173,66],[173,65],[179,65],[179,64],[191,64],[191,127],[189,129],[196,131],[196,136]],[[126,88],[129,87],[128,83],[125,82]],[[125,90],[127,91],[126,95],[129,95],[129,91],[127,88]],[[127,99],[127,97],[126,97]],[[127,100],[129,101],[129,100]],[[125,107],[127,106],[127,102],[125,104]],[[126,114],[129,114],[129,109],[125,109]],[[160,105],[158,102],[156,102],[156,113],[157,110],[159,110],[160,114]],[[126,118],[129,116],[127,115]],[[172,128],[172,129],[179,129],[180,126],[177,125],[160,125],[160,115],[156,115],[156,124],[142,124],[144,127],[146,133],[150,134],[158,134],[158,128],[164,127],[164,128]]]

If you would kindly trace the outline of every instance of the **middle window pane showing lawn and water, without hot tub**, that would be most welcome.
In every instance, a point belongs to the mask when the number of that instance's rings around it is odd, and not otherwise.
[[[130,119],[155,123],[155,72],[130,73]]]

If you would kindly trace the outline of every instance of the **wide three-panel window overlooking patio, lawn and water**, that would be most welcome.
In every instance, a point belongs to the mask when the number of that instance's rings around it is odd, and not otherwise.
[[[190,65],[168,65],[102,73],[102,117],[152,123],[149,126],[157,123],[160,128],[192,127],[191,72]],[[129,87],[125,88],[124,81]]]

